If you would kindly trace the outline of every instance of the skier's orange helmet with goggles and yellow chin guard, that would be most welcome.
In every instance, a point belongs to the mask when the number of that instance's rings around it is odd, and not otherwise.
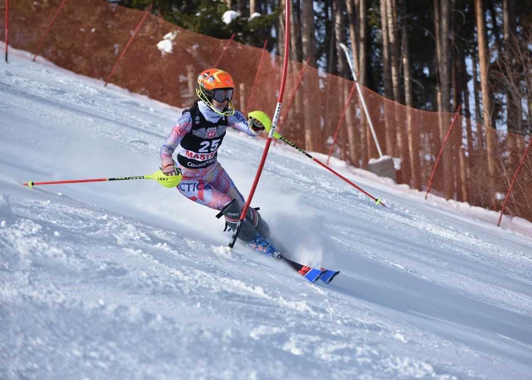
[[[231,99],[235,91],[235,84],[228,72],[220,69],[206,69],[198,75],[196,84],[196,94],[214,112],[223,116],[230,116],[235,113]],[[229,102],[226,109],[219,111],[212,105],[212,101],[223,103]]]

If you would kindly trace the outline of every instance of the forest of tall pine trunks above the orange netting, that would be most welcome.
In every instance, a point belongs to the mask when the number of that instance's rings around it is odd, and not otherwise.
[[[286,0],[118,0],[197,33],[284,51]],[[292,0],[290,59],[406,106],[532,132],[532,0]],[[239,15],[223,21],[229,10]],[[250,18],[253,13],[262,17]],[[245,58],[244,58],[245,59]],[[473,126],[474,128],[474,126]],[[470,135],[471,136],[471,135]],[[486,144],[473,141],[469,144]],[[482,139],[479,139],[482,140]]]

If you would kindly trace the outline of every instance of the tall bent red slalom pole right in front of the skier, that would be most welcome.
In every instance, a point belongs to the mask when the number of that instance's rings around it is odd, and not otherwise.
[[[282,97],[285,93],[286,72],[288,71],[288,46],[290,45],[290,2],[289,1],[286,2],[285,31],[286,31],[285,33],[285,57],[284,57],[284,63],[282,67],[281,88],[279,91],[279,98],[277,99],[277,106],[275,108],[275,114],[273,114],[271,130],[270,130],[270,133],[268,134],[268,139],[266,140],[266,144],[262,152],[261,162],[255,174],[255,180],[253,181],[250,195],[247,197],[246,205],[244,206],[244,209],[242,210],[242,214],[240,214],[240,219],[238,220],[235,231],[233,232],[231,236],[231,240],[229,241],[228,246],[230,248],[235,246],[238,233],[240,232],[240,228],[242,228],[242,223],[244,222],[246,218],[247,209],[250,208],[251,200],[253,199],[253,195],[255,194],[255,189],[257,188],[257,184],[259,183],[259,179],[262,173],[262,168],[264,167],[264,162],[266,161],[266,157],[268,156],[268,150],[270,149],[271,139],[273,138],[273,132],[275,132],[275,127],[277,126],[277,120],[279,119],[279,114],[281,111]]]

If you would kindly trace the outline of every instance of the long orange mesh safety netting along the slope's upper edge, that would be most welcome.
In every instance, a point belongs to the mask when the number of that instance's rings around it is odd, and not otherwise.
[[[145,12],[102,0],[17,0],[10,2],[9,15],[10,46],[31,53],[37,52],[56,16],[38,55],[79,74],[106,80]],[[0,36],[5,41],[3,17]],[[164,39],[166,52],[157,47]],[[198,73],[219,59],[219,68],[228,71],[237,84],[237,109],[261,109],[271,114],[277,102],[282,57],[193,33],[153,14],[147,14],[140,25],[110,82],[185,108],[196,99]],[[349,97],[353,82],[312,67],[303,68],[302,63],[289,64],[278,131],[305,150],[327,154],[339,125],[334,155],[366,168],[368,160],[378,158],[378,153],[358,94],[354,91]],[[362,92],[384,155],[401,158],[397,182],[427,189],[453,114],[411,109],[368,88]],[[348,99],[345,118],[338,124]],[[491,168],[489,139],[494,141]],[[431,193],[500,211],[527,144],[525,136],[486,130],[459,115],[436,169]],[[523,160],[505,214],[532,221],[531,194],[532,150]]]

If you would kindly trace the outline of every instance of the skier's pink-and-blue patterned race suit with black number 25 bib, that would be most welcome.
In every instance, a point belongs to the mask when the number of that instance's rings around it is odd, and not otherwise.
[[[242,112],[221,116],[203,101],[196,101],[194,106],[183,111],[160,152],[163,165],[171,164],[172,153],[180,145],[177,160],[183,177],[179,192],[219,211],[233,199],[240,208],[245,205],[244,197],[217,160],[227,127],[255,136]]]

